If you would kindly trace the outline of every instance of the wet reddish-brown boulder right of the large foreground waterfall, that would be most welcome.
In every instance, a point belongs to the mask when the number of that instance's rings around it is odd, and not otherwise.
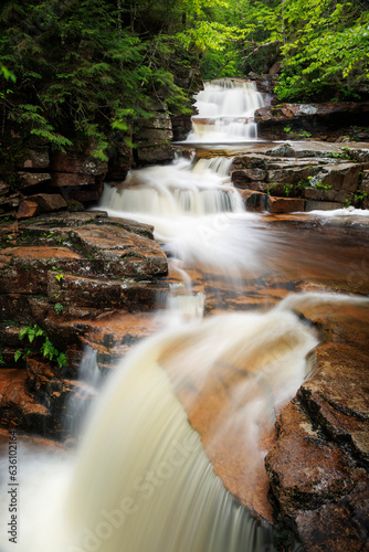
[[[313,306],[303,311],[319,316]],[[280,517],[306,550],[365,550],[367,542],[368,321],[365,306],[331,308],[319,370],[283,408],[266,456]]]

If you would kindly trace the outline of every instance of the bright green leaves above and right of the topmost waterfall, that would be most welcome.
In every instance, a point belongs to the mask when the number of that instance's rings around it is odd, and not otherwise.
[[[357,98],[369,78],[369,10],[365,2],[337,0],[239,0],[217,7],[214,21],[229,30],[222,51],[205,52],[207,78],[266,73],[281,62],[281,99]]]

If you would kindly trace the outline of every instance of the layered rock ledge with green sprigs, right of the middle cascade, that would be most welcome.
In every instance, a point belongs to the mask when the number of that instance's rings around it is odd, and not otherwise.
[[[369,206],[367,142],[256,145],[236,155],[232,169],[247,210],[276,214]]]

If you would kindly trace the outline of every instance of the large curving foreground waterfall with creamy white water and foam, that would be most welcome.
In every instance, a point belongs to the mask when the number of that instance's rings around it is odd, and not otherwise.
[[[108,382],[74,454],[32,455],[20,466],[21,552],[257,552],[270,533],[214,475],[200,436],[173,394],[199,389],[224,365],[249,373],[230,388],[240,446],[257,449],[260,416],[293,396],[315,332],[286,311],[233,314],[168,327]],[[166,370],[162,369],[166,368]],[[271,402],[271,394],[273,395]],[[222,438],[226,425],[213,429]],[[230,454],[232,452],[230,450]],[[3,518],[2,518],[3,519]]]

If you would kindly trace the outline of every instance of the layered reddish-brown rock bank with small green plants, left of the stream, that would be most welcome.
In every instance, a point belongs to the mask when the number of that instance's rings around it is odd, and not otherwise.
[[[61,438],[67,399],[84,392],[75,373],[85,347],[124,344],[127,323],[130,341],[147,335],[128,312],[156,306],[167,258],[151,226],[98,211],[19,221],[3,225],[0,238],[1,424]],[[117,312],[115,329],[104,331]],[[20,338],[22,328],[43,333],[31,343]],[[40,354],[46,339],[49,349],[66,353],[67,368],[55,363],[55,352]]]

